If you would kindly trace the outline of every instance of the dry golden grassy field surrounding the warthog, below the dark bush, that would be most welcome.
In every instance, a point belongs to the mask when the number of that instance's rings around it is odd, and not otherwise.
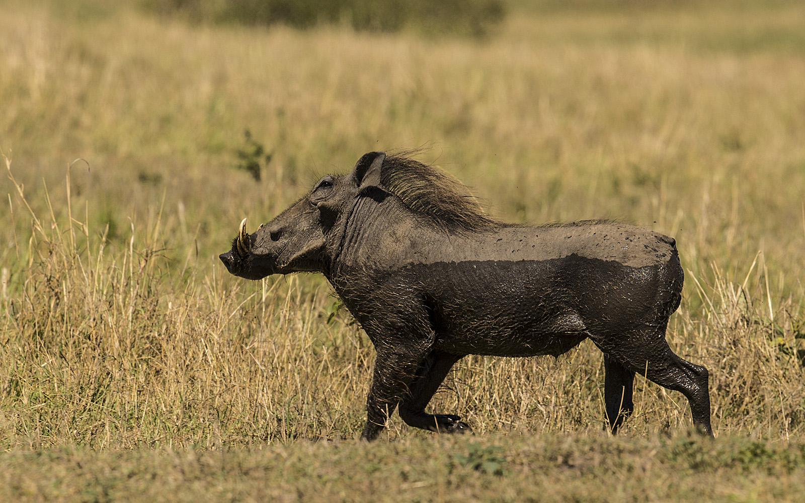
[[[600,4],[518,2],[477,41],[0,2],[0,499],[795,501],[805,7]],[[217,254],[320,174],[419,147],[500,218],[674,236],[667,339],[710,370],[716,443],[639,377],[603,434],[591,343],[462,360],[433,405],[475,437],[395,417],[353,442],[369,340],[319,276]]]

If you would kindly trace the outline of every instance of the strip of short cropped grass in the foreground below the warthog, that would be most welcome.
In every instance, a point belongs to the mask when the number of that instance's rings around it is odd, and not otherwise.
[[[575,435],[0,455],[27,501],[799,501],[803,445]]]

